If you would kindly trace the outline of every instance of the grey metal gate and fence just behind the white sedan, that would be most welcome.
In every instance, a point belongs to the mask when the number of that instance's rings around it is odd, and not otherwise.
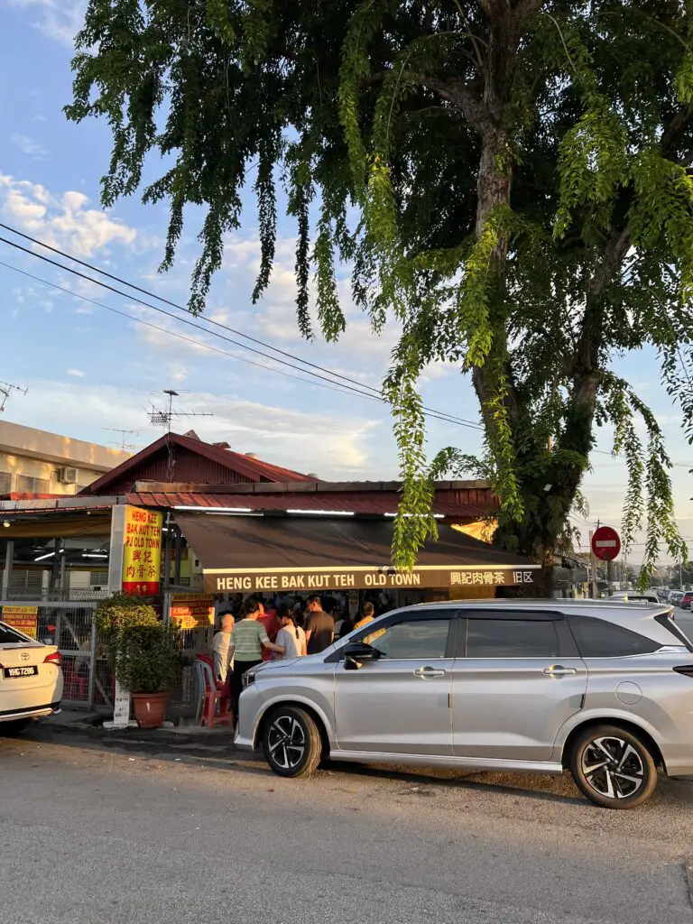
[[[63,656],[64,707],[113,709],[113,675],[96,637],[97,601],[0,601],[0,607],[4,605],[38,611],[36,638],[57,645]]]

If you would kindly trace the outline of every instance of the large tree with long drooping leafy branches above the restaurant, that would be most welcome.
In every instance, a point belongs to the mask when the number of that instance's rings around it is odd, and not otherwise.
[[[435,529],[432,478],[473,471],[502,501],[495,541],[548,575],[609,423],[626,544],[646,521],[647,574],[662,541],[684,547],[662,432],[612,360],[655,346],[691,435],[692,43],[689,0],[91,0],[67,116],[113,131],[106,206],[162,155],[143,198],[170,203],[164,269],[186,205],[205,207],[193,312],[246,183],[261,298],[281,183],[302,334],[313,317],[328,339],[344,330],[337,260],[374,333],[401,323],[384,383],[404,481],[397,564]],[[427,459],[417,381],[432,360],[473,383],[483,458]]]

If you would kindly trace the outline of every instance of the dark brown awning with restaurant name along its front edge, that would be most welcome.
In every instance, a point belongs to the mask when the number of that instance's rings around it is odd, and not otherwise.
[[[538,565],[439,527],[413,572],[390,565],[393,524],[318,517],[176,515],[207,592],[533,584]]]

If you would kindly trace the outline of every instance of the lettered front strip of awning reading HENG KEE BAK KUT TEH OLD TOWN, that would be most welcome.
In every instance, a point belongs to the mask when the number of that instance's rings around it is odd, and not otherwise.
[[[277,571],[210,570],[204,572],[204,589],[208,593],[229,591],[277,590],[364,590],[368,588],[434,588],[467,585],[487,587],[533,584],[534,571],[511,568],[419,567],[397,571],[393,567],[281,569]]]

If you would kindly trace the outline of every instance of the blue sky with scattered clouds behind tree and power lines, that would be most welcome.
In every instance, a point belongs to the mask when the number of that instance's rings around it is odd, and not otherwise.
[[[0,95],[0,221],[185,304],[201,215],[190,215],[174,270],[157,274],[165,204],[145,207],[131,199],[104,213],[99,180],[110,154],[110,134],[104,124],[75,126],[62,115],[62,106],[70,101],[71,42],[82,10],[81,0],[0,0],[0,77],[5,88]],[[336,345],[320,338],[301,340],[294,307],[295,228],[286,218],[280,219],[272,286],[260,304],[251,305],[259,261],[251,204],[242,233],[227,243],[207,316],[377,387],[396,330],[391,326],[382,337],[371,335],[369,322],[351,304],[346,275],[340,280],[346,334]],[[0,237],[6,233],[0,231]],[[161,432],[150,426],[148,409],[162,404],[164,389],[176,388],[179,407],[213,415],[181,419],[180,430],[194,426],[202,438],[225,440],[239,452],[255,452],[326,479],[397,475],[385,407],[324,387],[327,383],[304,381],[290,360],[278,368],[213,333],[236,339],[228,331],[206,322],[201,322],[205,330],[198,330],[175,309],[170,309],[173,318],[158,314],[2,243],[0,291],[0,380],[29,388],[26,396],[14,394],[7,402],[8,420],[96,443],[121,439],[115,429],[136,431],[125,438],[143,445]],[[676,463],[677,516],[693,548],[688,473],[693,449],[681,430],[680,415],[660,384],[652,352],[619,358],[615,368],[637,385],[663,424]],[[468,380],[454,367],[428,369],[421,387],[427,407],[478,420]],[[431,453],[450,444],[474,453],[480,448],[480,433],[432,419]],[[609,432],[600,432],[599,448],[610,449]],[[592,463],[585,482],[590,521],[599,517],[618,526],[626,470],[607,456],[595,455]],[[580,517],[574,522],[585,541],[589,524]],[[632,559],[639,557],[641,546],[636,546]]]

